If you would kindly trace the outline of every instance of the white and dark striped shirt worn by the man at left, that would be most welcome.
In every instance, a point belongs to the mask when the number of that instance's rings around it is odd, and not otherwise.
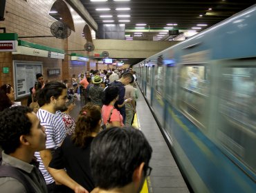
[[[37,112],[37,116],[40,120],[40,124],[44,126],[46,130],[46,149],[50,149],[53,154],[57,147],[60,147],[60,145],[62,145],[62,141],[66,136],[66,130],[64,122],[62,120],[62,114],[60,111],[52,114],[51,112],[42,110],[40,108]],[[37,157],[37,161],[39,161],[39,170],[42,172],[46,184],[53,183],[54,179],[44,167],[44,163],[41,159],[39,152],[35,152],[35,156]]]

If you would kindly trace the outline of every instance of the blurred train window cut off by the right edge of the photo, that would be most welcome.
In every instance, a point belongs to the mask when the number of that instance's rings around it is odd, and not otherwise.
[[[221,73],[217,140],[256,174],[256,68]]]

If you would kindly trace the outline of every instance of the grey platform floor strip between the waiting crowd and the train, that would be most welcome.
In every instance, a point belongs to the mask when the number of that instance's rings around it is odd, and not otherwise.
[[[145,181],[143,190],[140,193],[190,192],[158,125],[156,124],[154,116],[149,110],[143,94],[140,90],[138,90],[138,92],[137,113],[133,126],[145,134],[153,148],[152,159],[149,163],[153,170],[150,176],[147,177],[147,181]],[[84,105],[83,101],[80,101],[79,95],[77,95],[75,104],[76,106],[71,112],[71,116],[74,118],[77,117],[78,112]]]

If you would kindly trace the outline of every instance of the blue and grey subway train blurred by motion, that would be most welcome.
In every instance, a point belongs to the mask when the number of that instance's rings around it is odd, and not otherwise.
[[[133,65],[193,192],[256,192],[256,5]]]

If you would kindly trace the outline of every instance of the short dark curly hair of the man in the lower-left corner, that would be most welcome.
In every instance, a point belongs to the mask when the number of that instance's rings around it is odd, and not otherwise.
[[[0,145],[6,154],[13,153],[19,148],[19,137],[22,134],[30,134],[30,112],[33,110],[24,106],[7,108],[0,112]]]

